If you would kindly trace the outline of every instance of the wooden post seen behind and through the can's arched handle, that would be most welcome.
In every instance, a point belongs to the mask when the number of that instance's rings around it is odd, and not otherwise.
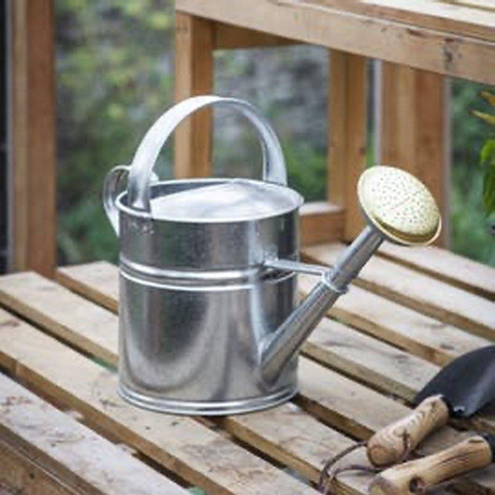
[[[213,92],[212,21],[175,14],[175,99]],[[174,174],[177,178],[207,177],[211,169],[211,109],[203,109],[175,132]]]

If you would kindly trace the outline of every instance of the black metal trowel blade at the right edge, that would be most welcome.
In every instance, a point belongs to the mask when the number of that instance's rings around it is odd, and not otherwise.
[[[454,417],[469,417],[495,400],[495,346],[482,347],[457,357],[414,397],[441,394]]]

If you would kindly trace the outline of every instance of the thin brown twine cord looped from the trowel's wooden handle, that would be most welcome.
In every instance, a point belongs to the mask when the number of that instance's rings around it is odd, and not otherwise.
[[[332,481],[337,477],[337,475],[346,471],[362,471],[365,473],[376,474],[383,471],[384,469],[394,466],[395,464],[402,464],[409,458],[409,454],[411,453],[411,438],[406,431],[404,431],[402,434],[402,442],[404,444],[404,453],[396,463],[393,462],[387,466],[381,467],[364,466],[362,464],[349,464],[347,466],[338,467],[329,471],[336,462],[340,461],[350,452],[353,452],[360,447],[367,446],[368,442],[358,442],[357,444],[345,448],[341,452],[331,457],[327,462],[325,462],[325,465],[323,466],[320,473],[320,478],[318,480],[318,491],[321,492],[323,495],[328,495],[330,493],[330,485],[332,484]]]

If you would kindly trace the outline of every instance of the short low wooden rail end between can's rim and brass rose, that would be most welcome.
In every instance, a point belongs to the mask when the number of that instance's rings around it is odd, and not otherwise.
[[[327,202],[306,203],[300,209],[300,238],[303,246],[312,246],[322,239],[343,238],[344,210]]]

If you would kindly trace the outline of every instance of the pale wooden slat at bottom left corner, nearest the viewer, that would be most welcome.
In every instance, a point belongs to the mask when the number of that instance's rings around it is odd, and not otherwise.
[[[187,494],[1,374],[0,437],[35,466],[78,493]]]

